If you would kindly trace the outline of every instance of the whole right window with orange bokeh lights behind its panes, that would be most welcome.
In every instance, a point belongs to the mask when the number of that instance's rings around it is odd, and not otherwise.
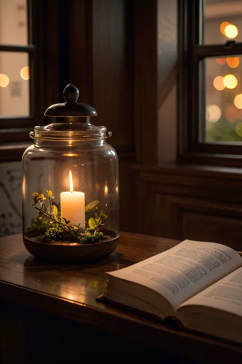
[[[181,160],[234,163],[242,151],[241,1],[180,0],[179,21]]]

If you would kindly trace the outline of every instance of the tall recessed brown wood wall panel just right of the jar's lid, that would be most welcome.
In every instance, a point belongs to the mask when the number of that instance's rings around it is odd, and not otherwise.
[[[126,69],[126,13],[124,0],[94,0],[92,11],[93,105],[95,121],[112,131],[110,143],[132,144],[133,109]],[[127,107],[128,106],[128,107]]]

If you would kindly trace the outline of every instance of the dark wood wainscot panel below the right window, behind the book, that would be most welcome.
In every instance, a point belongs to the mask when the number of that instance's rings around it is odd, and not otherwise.
[[[147,211],[144,223],[139,214],[138,232],[229,242],[242,249],[241,171],[176,165],[136,169],[146,196],[138,206]]]

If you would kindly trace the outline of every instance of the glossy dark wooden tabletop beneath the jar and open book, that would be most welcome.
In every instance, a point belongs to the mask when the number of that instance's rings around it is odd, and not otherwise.
[[[53,313],[189,358],[199,353],[201,361],[241,359],[242,349],[235,344],[167,327],[96,301],[106,290],[106,271],[149,258],[177,243],[176,240],[122,233],[116,251],[102,261],[55,265],[32,257],[20,234],[4,237],[0,239],[0,300]]]

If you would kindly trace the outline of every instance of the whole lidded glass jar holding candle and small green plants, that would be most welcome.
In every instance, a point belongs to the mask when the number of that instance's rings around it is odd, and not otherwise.
[[[90,123],[96,111],[78,96],[66,86],[66,103],[45,111],[52,123],[35,127],[22,157],[23,241],[41,258],[95,259],[118,243],[118,157],[106,142],[111,133]]]

